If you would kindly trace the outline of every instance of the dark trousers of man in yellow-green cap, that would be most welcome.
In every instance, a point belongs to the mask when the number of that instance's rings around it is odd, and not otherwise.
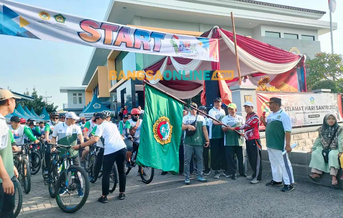
[[[244,174],[244,165],[243,165],[243,147],[242,146],[225,146],[225,155],[227,162],[227,171],[229,174],[236,174],[236,164],[234,162],[235,154],[238,160],[238,171],[239,174]]]

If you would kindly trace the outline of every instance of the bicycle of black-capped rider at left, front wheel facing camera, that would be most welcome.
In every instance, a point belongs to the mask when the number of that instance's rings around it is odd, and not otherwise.
[[[31,143],[26,143],[21,146],[21,150],[18,152],[13,152],[13,162],[18,170],[19,175],[21,175],[20,182],[23,182],[24,192],[29,193],[31,191],[31,170],[28,163],[28,146]],[[19,147],[18,146],[18,147]]]

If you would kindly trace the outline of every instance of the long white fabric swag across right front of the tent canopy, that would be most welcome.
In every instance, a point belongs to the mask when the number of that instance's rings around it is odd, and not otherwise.
[[[223,41],[229,47],[229,49],[232,51],[232,53],[235,53],[235,43],[231,41],[223,31],[219,30]],[[286,63],[286,64],[276,64],[276,63],[270,63],[261,59],[258,59],[255,56],[250,55],[248,52],[246,52],[244,49],[237,46],[237,53],[238,58],[240,61],[242,61],[244,64],[246,64],[248,67],[255,69],[258,72],[266,73],[266,74],[280,74],[283,72],[287,72],[288,70],[291,70],[294,68],[298,62],[301,60],[301,57],[299,57],[298,60]]]

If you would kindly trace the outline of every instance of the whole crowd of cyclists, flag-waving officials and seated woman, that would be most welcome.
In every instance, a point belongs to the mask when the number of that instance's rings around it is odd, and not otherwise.
[[[74,112],[59,115],[50,113],[50,121],[46,124],[37,124],[34,120],[27,121],[18,116],[12,116],[10,125],[4,118],[13,113],[15,97],[8,90],[0,90],[0,209],[1,216],[13,214],[14,187],[18,185],[18,173],[13,165],[12,151],[31,140],[38,143],[36,137],[45,139],[46,142],[61,145],[72,145],[70,154],[74,165],[84,167],[84,158],[89,152],[89,146],[96,144],[97,158],[95,161],[95,174],[89,180],[94,180],[103,168],[102,196],[98,201],[108,202],[109,176],[111,167],[116,162],[119,174],[119,199],[125,198],[126,168],[131,166],[131,151],[133,144],[139,144],[142,117],[144,111],[139,106],[133,108],[131,113],[128,107],[121,108],[121,120],[111,120],[111,113],[103,111],[94,113],[86,121]],[[182,118],[182,134],[179,146],[179,177],[185,177],[186,185],[191,183],[193,171],[196,181],[206,182],[206,176],[213,172],[213,178],[221,175],[236,180],[244,177],[251,180],[251,184],[262,182],[262,157],[259,125],[265,126],[266,147],[271,164],[272,180],[267,186],[283,186],[283,192],[294,190],[294,176],[288,153],[291,148],[292,123],[290,117],[281,108],[281,99],[272,97],[269,102],[270,114],[267,117],[258,116],[254,112],[252,102],[243,105],[246,112],[245,119],[238,115],[237,105],[230,103],[225,110],[220,97],[213,99],[213,108],[207,114],[206,106],[191,103],[184,107]],[[119,118],[120,119],[120,118]],[[338,180],[336,175],[340,169],[339,158],[343,158],[343,128],[340,127],[332,114],[325,116],[323,125],[319,128],[319,137],[316,139],[310,153],[312,159],[309,167],[312,168],[312,180],[317,181],[322,173],[332,175],[332,185]],[[76,139],[80,144],[76,144]],[[85,139],[85,140],[84,140]],[[245,139],[245,140],[244,140]],[[244,167],[244,141],[252,174],[247,175]],[[46,144],[46,162],[50,162],[50,154],[56,148]],[[79,158],[78,150],[82,150]],[[286,154],[282,154],[286,151]],[[238,174],[235,157],[238,162]],[[195,160],[195,161],[194,161]],[[343,162],[343,160],[341,161]],[[48,173],[48,172],[44,172]],[[168,172],[162,172],[162,175]],[[343,178],[342,178],[343,179]],[[79,187],[79,186],[78,186]],[[61,190],[60,195],[66,193]],[[78,197],[83,197],[83,190],[79,187]]]

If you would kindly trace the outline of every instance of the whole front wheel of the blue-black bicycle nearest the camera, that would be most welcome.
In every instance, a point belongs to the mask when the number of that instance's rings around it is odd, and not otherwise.
[[[66,213],[74,213],[82,208],[89,195],[89,181],[86,171],[79,166],[70,166],[63,171],[56,183],[56,202]],[[80,195],[83,192],[83,196]],[[81,193],[82,194],[82,193]]]

